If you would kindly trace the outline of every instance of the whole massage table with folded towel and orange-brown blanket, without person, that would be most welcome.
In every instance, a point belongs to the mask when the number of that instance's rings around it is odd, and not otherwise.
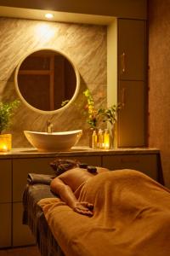
[[[29,174],[31,182],[26,184],[23,195],[23,223],[29,225],[36,237],[42,256],[170,255],[169,242],[166,241],[170,237],[170,191],[137,171],[112,172],[115,177],[113,183],[111,177],[108,178],[104,188],[106,197],[100,193],[103,188],[101,174],[82,188],[80,200],[84,201],[88,196],[90,201],[94,194],[99,197],[94,206],[94,220],[73,212],[50,191],[49,183],[53,177]],[[135,176],[140,179],[135,179]],[[94,183],[99,187],[95,188]],[[114,207],[110,208],[110,201],[114,202]],[[102,205],[105,205],[104,209]],[[65,223],[65,219],[70,219],[70,222]]]

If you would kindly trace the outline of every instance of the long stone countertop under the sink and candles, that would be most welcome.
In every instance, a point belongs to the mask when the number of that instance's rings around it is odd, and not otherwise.
[[[73,147],[63,152],[38,152],[36,148],[12,148],[9,152],[0,152],[0,159],[59,157],[78,155],[113,155],[113,154],[159,154],[158,148],[114,148],[98,149],[85,146]]]

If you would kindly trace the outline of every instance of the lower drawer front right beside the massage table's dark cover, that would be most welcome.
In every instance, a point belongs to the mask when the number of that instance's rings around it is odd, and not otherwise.
[[[35,244],[31,230],[22,224],[23,206],[22,203],[13,204],[13,246],[25,246]]]

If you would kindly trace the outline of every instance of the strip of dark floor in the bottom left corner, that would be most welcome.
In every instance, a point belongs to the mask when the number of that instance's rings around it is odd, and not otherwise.
[[[41,256],[37,247],[17,247],[0,250],[0,256]]]

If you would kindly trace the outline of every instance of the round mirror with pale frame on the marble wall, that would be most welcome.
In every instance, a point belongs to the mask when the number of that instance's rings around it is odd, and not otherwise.
[[[80,76],[64,53],[39,49],[20,61],[14,84],[20,99],[29,108],[39,113],[57,113],[75,100]]]

